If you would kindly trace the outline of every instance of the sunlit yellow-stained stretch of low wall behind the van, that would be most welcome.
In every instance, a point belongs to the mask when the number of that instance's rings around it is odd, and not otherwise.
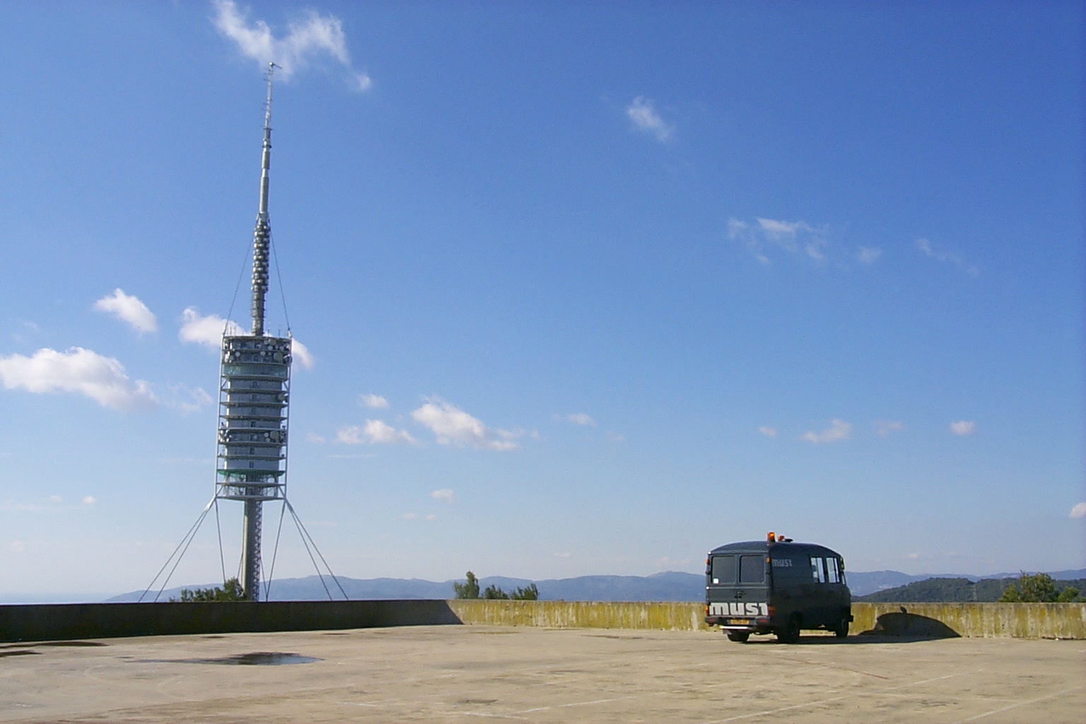
[[[467,624],[705,630],[703,604],[451,600]],[[902,610],[904,606],[904,610]],[[1083,604],[853,604],[854,633],[1086,638]]]

